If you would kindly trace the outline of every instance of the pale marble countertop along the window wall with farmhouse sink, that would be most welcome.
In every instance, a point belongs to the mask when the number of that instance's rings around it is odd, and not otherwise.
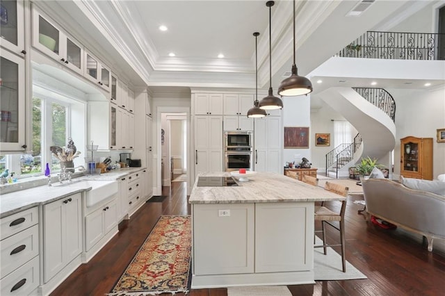
[[[91,190],[88,183],[82,182],[81,180],[115,181],[120,179],[122,176],[127,176],[128,174],[144,169],[145,167],[126,167],[120,170],[113,170],[105,174],[81,176],[79,178],[72,179],[72,183],[63,181],[63,184],[59,184],[58,181],[54,181],[51,187],[42,185],[24,189],[26,186],[22,186],[22,190],[1,195],[0,218],[13,215],[14,213],[24,211],[34,206],[49,204],[58,199],[63,199],[67,196],[74,195],[78,192]]]

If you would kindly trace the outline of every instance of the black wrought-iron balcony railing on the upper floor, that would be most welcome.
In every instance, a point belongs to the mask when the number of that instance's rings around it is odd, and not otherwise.
[[[367,31],[336,55],[345,58],[444,60],[444,33]]]

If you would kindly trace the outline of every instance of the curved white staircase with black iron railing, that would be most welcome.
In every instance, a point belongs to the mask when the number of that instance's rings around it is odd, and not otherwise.
[[[381,158],[394,149],[396,104],[388,92],[380,88],[329,88],[319,95],[359,131],[353,143],[340,145],[326,155],[327,175],[346,175],[348,167],[362,156]]]

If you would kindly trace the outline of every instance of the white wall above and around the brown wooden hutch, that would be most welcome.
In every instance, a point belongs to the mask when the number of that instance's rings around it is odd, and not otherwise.
[[[445,128],[445,87],[435,90],[387,90],[396,101],[394,174],[400,175],[400,139],[408,135],[432,140],[432,176],[445,173],[445,143],[437,142],[437,129]]]

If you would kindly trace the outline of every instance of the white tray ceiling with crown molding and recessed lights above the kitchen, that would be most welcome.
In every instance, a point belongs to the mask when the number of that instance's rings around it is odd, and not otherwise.
[[[269,80],[269,8],[266,1],[38,1],[54,10],[60,22],[78,22],[70,29],[95,49],[107,48],[116,70],[129,67],[139,79],[161,90],[184,88],[254,88],[258,31],[259,88]],[[47,4],[47,2],[51,2]],[[296,1],[296,64],[307,75],[337,51],[369,30],[391,28],[426,6],[445,1],[375,0],[362,15],[346,14],[359,1]],[[61,9],[60,9],[61,8]],[[62,12],[67,16],[63,16]],[[272,7],[272,84],[275,90],[291,70],[293,58],[292,1]],[[89,22],[86,22],[86,19]],[[159,26],[168,31],[159,31]],[[168,56],[174,52],[176,56]],[[217,58],[218,54],[225,58]],[[120,66],[122,65],[122,67]],[[289,73],[288,73],[289,74]],[[313,81],[314,83],[314,81]]]

